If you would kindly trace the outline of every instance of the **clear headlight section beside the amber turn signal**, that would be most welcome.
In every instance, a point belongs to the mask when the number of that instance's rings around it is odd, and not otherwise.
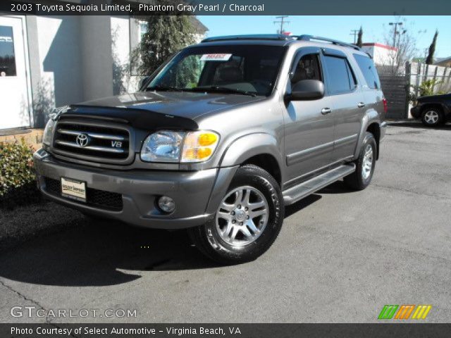
[[[184,135],[184,132],[171,132],[168,130],[150,134],[142,145],[142,161],[178,162]]]

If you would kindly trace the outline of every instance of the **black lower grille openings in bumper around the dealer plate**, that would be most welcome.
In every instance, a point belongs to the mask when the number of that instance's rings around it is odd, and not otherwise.
[[[61,182],[58,180],[44,177],[45,191],[49,194],[61,197]],[[70,201],[75,201],[70,199]],[[77,202],[77,201],[75,201]],[[82,202],[78,202],[82,203]],[[86,204],[105,209],[119,211],[122,210],[122,195],[116,192],[106,192],[104,190],[86,189]]]

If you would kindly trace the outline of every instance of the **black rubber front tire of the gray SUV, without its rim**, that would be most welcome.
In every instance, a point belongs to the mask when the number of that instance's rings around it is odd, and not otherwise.
[[[268,250],[282,227],[285,208],[278,182],[257,165],[243,165],[237,170],[226,196],[239,187],[257,189],[266,199],[267,223],[254,242],[236,246],[226,242],[218,232],[215,217],[204,225],[188,230],[192,242],[206,256],[221,264],[239,264],[254,261]],[[224,196],[224,198],[226,198]],[[250,208],[250,207],[249,207]]]

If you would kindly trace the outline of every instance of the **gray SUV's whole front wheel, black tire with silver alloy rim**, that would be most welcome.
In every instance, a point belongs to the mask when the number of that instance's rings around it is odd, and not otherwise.
[[[202,253],[223,264],[253,261],[270,248],[283,223],[283,196],[277,181],[256,165],[243,165],[215,217],[189,230]]]

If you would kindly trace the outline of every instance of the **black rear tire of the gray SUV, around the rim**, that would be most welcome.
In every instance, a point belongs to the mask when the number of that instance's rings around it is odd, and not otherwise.
[[[368,146],[371,146],[373,156],[371,162],[371,170],[369,170],[369,175],[365,177],[363,169],[365,165],[364,156],[366,150],[368,149]],[[347,175],[345,177],[345,184],[347,184],[348,187],[354,190],[363,190],[369,186],[371,178],[373,178],[374,168],[376,166],[376,154],[376,139],[374,139],[374,136],[373,134],[371,134],[371,132],[366,132],[364,141],[362,142],[362,146],[360,147],[359,158],[354,161],[356,170],[351,175]]]

